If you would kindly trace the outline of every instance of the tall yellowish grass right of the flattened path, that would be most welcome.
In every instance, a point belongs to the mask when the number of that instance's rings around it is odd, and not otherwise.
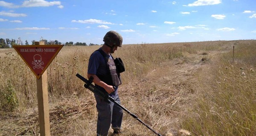
[[[239,41],[233,51],[198,74],[199,97],[181,127],[195,136],[256,134],[256,42]]]

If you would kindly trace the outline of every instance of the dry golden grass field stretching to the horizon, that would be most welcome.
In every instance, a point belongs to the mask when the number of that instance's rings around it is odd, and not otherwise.
[[[75,75],[87,77],[98,48],[65,46],[47,68],[52,136],[96,135],[94,96]],[[256,40],[123,45],[113,54],[125,62],[121,103],[163,136],[254,136],[255,48]],[[0,49],[0,136],[39,135],[36,93],[25,62]],[[121,136],[154,136],[127,113],[122,127]]]

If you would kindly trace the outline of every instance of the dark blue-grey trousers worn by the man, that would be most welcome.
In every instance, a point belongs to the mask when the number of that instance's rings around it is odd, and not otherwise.
[[[118,94],[112,98],[120,104]],[[100,99],[99,96],[95,96],[95,99],[98,111],[97,136],[108,136],[108,130],[111,125],[114,130],[121,129],[123,116],[122,109],[113,102],[108,103],[105,100]]]

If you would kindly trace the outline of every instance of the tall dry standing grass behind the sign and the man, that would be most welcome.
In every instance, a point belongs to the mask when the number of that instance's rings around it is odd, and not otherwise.
[[[81,89],[82,82],[76,78],[79,73],[86,77],[87,65],[90,54],[100,48],[100,46],[76,46],[64,47],[47,68],[48,91],[50,102],[69,98],[73,94],[84,95]],[[12,84],[12,99],[16,99],[19,105],[15,105],[20,110],[35,107],[36,100],[36,80],[30,69],[26,66],[20,56],[9,49],[3,52],[0,58],[0,109],[9,107],[6,95],[9,85]],[[176,47],[154,47],[154,45],[124,45],[118,48],[114,57],[121,57],[125,62],[125,74],[122,75],[123,83],[130,79],[137,79],[151,71],[155,65],[173,58],[183,57],[180,49]],[[4,95],[6,94],[6,95]],[[13,109],[13,108],[12,108]]]

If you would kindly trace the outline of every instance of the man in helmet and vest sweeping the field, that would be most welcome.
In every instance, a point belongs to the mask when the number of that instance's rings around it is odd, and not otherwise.
[[[104,45],[91,54],[87,77],[93,77],[96,88],[106,91],[116,102],[120,103],[118,86],[121,84],[120,74],[116,71],[113,54],[117,47],[122,47],[122,36],[116,31],[109,31],[103,38]],[[98,111],[97,136],[108,136],[108,130],[114,134],[121,133],[123,111],[113,102],[107,102],[94,95]]]

